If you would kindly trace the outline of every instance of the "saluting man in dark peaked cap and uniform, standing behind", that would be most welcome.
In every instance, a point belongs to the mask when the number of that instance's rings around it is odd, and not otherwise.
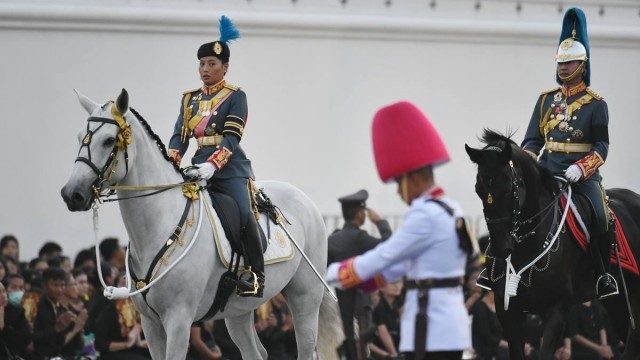
[[[336,230],[329,236],[329,256],[328,263],[339,262],[360,255],[367,250],[373,249],[391,236],[389,222],[380,218],[377,212],[367,208],[366,201],[369,194],[366,190],[360,190],[355,194],[344,196],[338,199],[342,204],[342,216],[344,217],[344,227]],[[375,238],[366,231],[360,229],[366,218],[376,224],[381,238]],[[359,288],[349,290],[336,290],[340,315],[345,332],[345,342],[343,348],[347,359],[365,359],[362,353],[363,346],[358,347],[355,340],[353,318],[358,319],[361,333],[364,327],[362,321],[365,306],[370,305],[370,296],[362,292]],[[361,339],[364,341],[365,339]],[[360,354],[360,356],[358,356]]]

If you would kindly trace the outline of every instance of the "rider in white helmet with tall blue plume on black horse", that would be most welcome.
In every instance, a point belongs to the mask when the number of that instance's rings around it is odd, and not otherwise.
[[[589,61],[586,16],[578,8],[569,9],[556,55],[556,81],[561,86],[539,96],[521,146],[536,159],[542,150],[540,164],[564,175],[573,190],[589,200],[595,215],[590,247],[598,271],[596,290],[603,298],[618,293],[608,273],[615,233],[598,171],[609,152],[609,113],[602,97],[587,87]],[[490,289],[491,282],[481,274],[478,286]]]

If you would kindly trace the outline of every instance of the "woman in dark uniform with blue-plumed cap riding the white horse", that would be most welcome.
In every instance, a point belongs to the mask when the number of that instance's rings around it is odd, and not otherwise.
[[[243,275],[250,275],[240,276],[238,294],[262,297],[264,259],[250,199],[250,179],[254,175],[251,161],[239,144],[247,121],[247,99],[239,87],[227,84],[224,79],[229,68],[228,42],[238,37],[238,30],[222,16],[220,39],[198,49],[200,79],[204,84],[184,92],[168,153],[180,164],[189,138],[196,138],[198,150],[191,159],[195,166],[185,173],[208,180],[210,192],[227,194],[237,202],[245,252]]]

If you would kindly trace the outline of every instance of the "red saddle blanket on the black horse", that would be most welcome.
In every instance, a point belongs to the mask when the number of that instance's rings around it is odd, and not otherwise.
[[[562,204],[562,208],[564,209],[567,206],[567,199],[562,196],[560,198],[560,202]],[[618,216],[613,212],[611,208],[609,208],[613,219],[616,224],[616,242],[618,243],[618,251],[620,252],[620,265],[627,269],[628,271],[640,275],[640,269],[638,268],[638,262],[633,256],[633,252],[631,251],[631,247],[629,245],[629,241],[627,240],[627,236],[622,228],[622,224],[618,219]],[[589,243],[589,233],[586,230],[586,226],[582,221],[582,217],[578,212],[576,206],[571,203],[571,209],[567,214],[567,225],[573,234],[573,238],[576,240],[582,251],[587,251],[587,246]],[[611,250],[611,259],[612,264],[618,263],[618,258],[616,257],[615,250]]]

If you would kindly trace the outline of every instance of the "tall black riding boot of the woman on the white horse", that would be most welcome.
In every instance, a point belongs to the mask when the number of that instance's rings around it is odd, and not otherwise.
[[[253,214],[249,216],[249,222],[242,230],[242,241],[245,251],[245,268],[238,278],[238,295],[260,298],[264,289],[264,257],[258,224]]]

